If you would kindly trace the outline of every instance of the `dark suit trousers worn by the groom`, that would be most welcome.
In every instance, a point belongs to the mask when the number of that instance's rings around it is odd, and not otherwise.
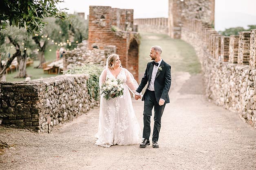
[[[144,94],[144,111],[143,111],[143,138],[149,139],[150,137],[150,117],[152,116],[152,109],[154,107],[154,129],[152,135],[152,141],[158,141],[159,132],[161,129],[161,117],[163,115],[164,107],[166,103],[159,106],[154,91],[147,90]]]

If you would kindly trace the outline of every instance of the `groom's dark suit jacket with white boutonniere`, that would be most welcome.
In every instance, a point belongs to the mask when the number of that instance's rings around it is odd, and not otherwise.
[[[152,61],[154,62],[154,61]],[[141,83],[139,85],[139,87],[137,88],[136,92],[141,93],[142,89],[146,86],[146,84],[148,83],[148,86],[150,84],[150,79],[152,76],[152,71],[153,71],[153,66],[152,62],[149,62],[147,64],[147,68],[146,71],[144,73],[143,78],[141,79]],[[162,71],[158,70],[156,78],[154,80],[154,94],[155,97],[157,99],[157,102],[159,102],[160,98],[162,98],[163,100],[165,100],[165,103],[169,103],[169,89],[171,87],[171,66],[166,63],[165,61],[162,60],[159,68],[162,68]],[[148,86],[146,88],[145,94],[148,91]],[[144,100],[144,96],[142,97],[142,101]]]

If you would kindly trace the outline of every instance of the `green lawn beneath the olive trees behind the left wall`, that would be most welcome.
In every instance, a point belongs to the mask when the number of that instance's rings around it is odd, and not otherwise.
[[[52,50],[51,52],[49,50]],[[46,52],[44,53],[46,62],[48,61],[53,61],[56,59],[56,51],[57,47],[56,46],[49,46],[46,48]],[[39,61],[36,60],[34,61],[33,65],[30,67],[26,68],[26,73],[31,76],[31,79],[38,79],[38,78],[47,78],[47,77],[52,77],[52,76],[57,76],[56,74],[44,74],[43,69],[40,68],[34,68],[39,65]],[[7,74],[6,76],[6,81],[25,81],[25,78],[14,78],[17,76],[18,72],[12,72],[11,74]]]

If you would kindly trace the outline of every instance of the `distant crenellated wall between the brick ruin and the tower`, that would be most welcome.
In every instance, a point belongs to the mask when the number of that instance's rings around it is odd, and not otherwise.
[[[139,32],[168,34],[168,18],[135,19]]]

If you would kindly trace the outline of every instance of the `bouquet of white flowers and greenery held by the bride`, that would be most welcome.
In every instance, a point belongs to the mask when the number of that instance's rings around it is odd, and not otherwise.
[[[106,100],[109,100],[111,98],[123,96],[124,85],[120,79],[108,78],[104,83],[102,83],[100,91],[100,94],[103,95]]]

